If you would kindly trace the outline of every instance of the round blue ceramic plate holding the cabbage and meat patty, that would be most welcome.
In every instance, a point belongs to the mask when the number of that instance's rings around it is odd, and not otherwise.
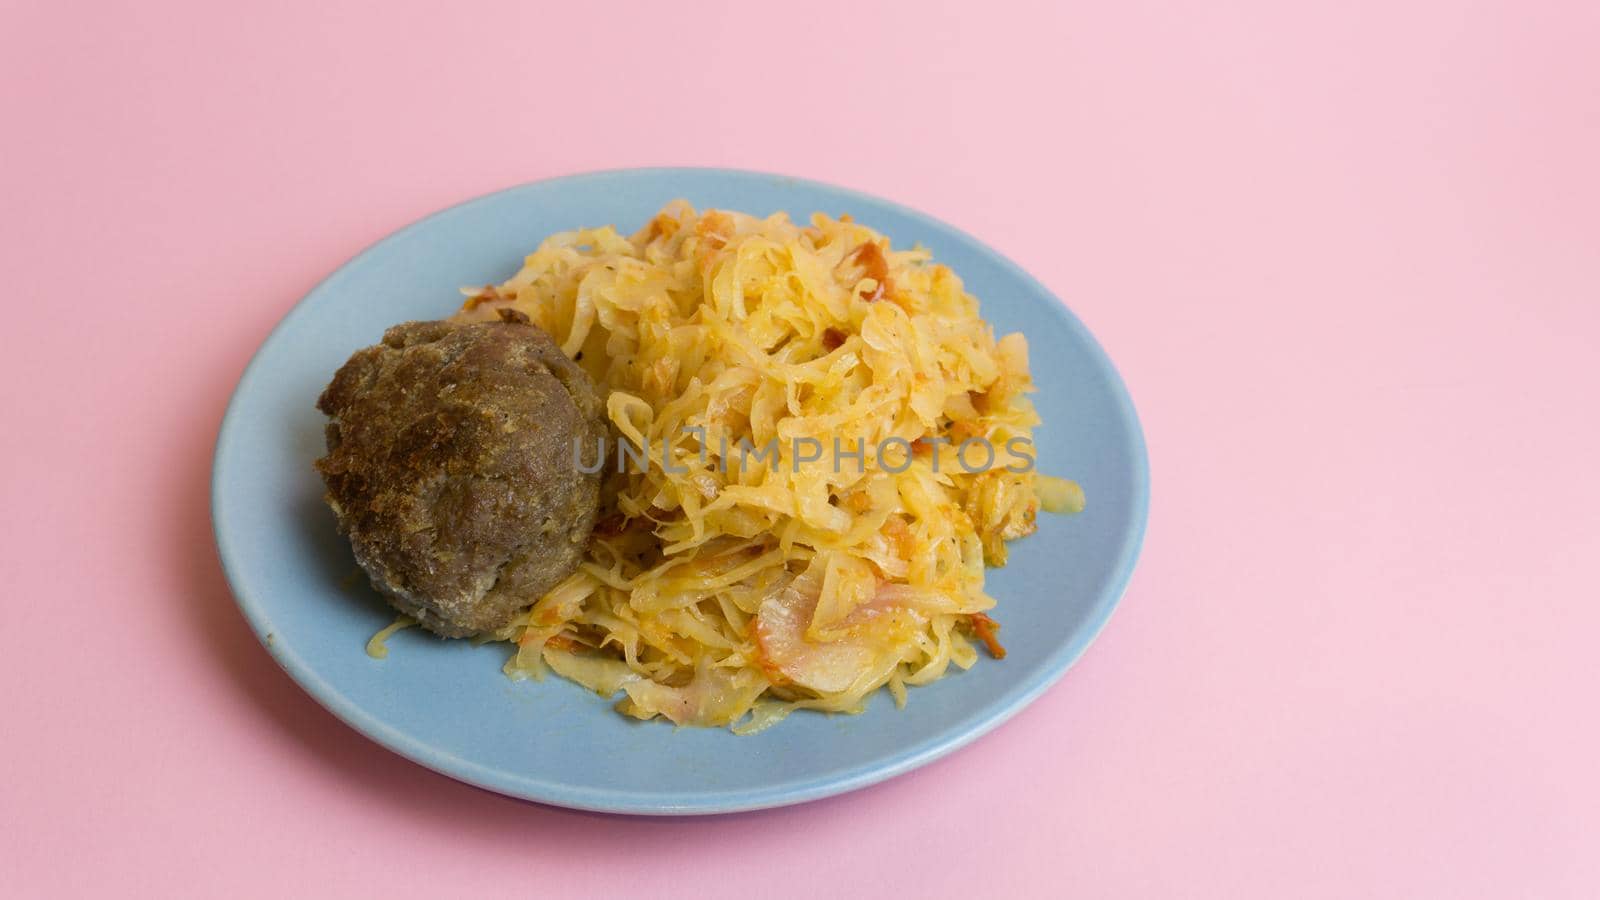
[[[365,586],[322,503],[314,408],[333,372],[384,328],[456,311],[458,288],[510,277],[546,235],[630,232],[675,197],[766,215],[851,213],[896,247],[923,243],[982,301],[997,333],[1032,348],[1040,469],[1077,479],[1088,509],[1040,516],[989,573],[1010,650],[861,716],[798,713],[752,737],[619,716],[549,677],[501,674],[506,645],[405,631],[387,660],[363,647],[392,613]],[[429,769],[531,801],[608,812],[712,814],[838,794],[957,749],[1038,697],[1120,599],[1144,535],[1149,474],[1128,392],[1083,325],[1037,280],[960,231],[877,197],[726,170],[630,170],[512,187],[366,250],[272,331],[238,383],[216,445],[211,503],[222,567],[272,657],[352,727]]]

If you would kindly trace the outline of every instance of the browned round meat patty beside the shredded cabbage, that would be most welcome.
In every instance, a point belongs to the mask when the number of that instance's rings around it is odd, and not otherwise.
[[[506,628],[584,557],[605,434],[595,386],[515,311],[406,322],[357,351],[317,407],[326,500],[373,588],[446,637]]]

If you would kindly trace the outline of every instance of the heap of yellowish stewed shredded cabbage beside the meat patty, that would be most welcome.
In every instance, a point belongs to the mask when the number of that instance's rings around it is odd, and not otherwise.
[[[547,239],[458,319],[507,306],[594,376],[635,452],[606,460],[579,570],[493,636],[514,677],[550,668],[629,716],[739,733],[885,685],[902,705],[971,666],[973,639],[1003,653],[984,567],[1042,498],[1082,508],[1008,444],[1038,423],[1022,335],[995,340],[950,269],[850,216],[674,202],[632,237]],[[773,439],[776,460],[741,456]],[[795,464],[795,439],[822,458]],[[1000,458],[965,471],[968,439]]]

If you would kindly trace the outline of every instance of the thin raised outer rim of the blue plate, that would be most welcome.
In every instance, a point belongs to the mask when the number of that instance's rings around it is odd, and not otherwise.
[[[1070,328],[1088,348],[1093,356],[1093,362],[1099,370],[1106,373],[1107,388],[1112,392],[1112,399],[1117,407],[1117,413],[1122,421],[1128,426],[1131,447],[1133,447],[1133,511],[1131,511],[1131,527],[1122,544],[1122,554],[1115,560],[1107,588],[1101,591],[1096,597],[1093,609],[1090,610],[1085,625],[1078,628],[1070,641],[1062,642],[1056,647],[1038,666],[1038,671],[1022,685],[1018,692],[1006,692],[1002,697],[1002,703],[979,706],[968,716],[954,721],[950,725],[942,727],[934,737],[922,741],[917,746],[894,753],[893,756],[869,761],[846,767],[840,772],[829,772],[805,781],[779,781],[774,785],[763,785],[760,788],[742,788],[730,791],[698,791],[694,794],[650,794],[638,791],[613,791],[603,788],[578,786],[557,781],[539,781],[538,778],[522,778],[517,781],[507,781],[504,773],[498,769],[490,769],[480,765],[470,759],[459,757],[456,754],[442,751],[421,738],[414,738],[406,732],[390,725],[386,719],[371,714],[362,705],[355,703],[346,697],[338,687],[326,682],[315,671],[304,663],[291,647],[283,645],[283,642],[275,639],[275,631],[272,626],[270,612],[266,604],[254,596],[250,585],[238,575],[237,554],[238,548],[232,546],[227,536],[227,528],[224,527],[224,511],[221,503],[221,485],[224,482],[226,452],[230,445],[230,432],[234,424],[242,415],[240,412],[240,396],[245,392],[245,386],[258,378],[262,378],[262,365],[269,351],[282,340],[286,327],[296,320],[296,317],[306,314],[309,309],[309,301],[320,293],[331,290],[342,279],[349,277],[352,267],[374,253],[381,247],[398,242],[414,231],[422,227],[430,227],[467,211],[472,207],[488,203],[501,199],[506,194],[515,194],[520,191],[528,191],[531,187],[560,187],[578,184],[584,181],[608,181],[608,179],[629,179],[629,178],[662,178],[662,176],[706,176],[706,175],[723,175],[734,176],[741,179],[771,179],[786,184],[795,184],[808,189],[821,189],[824,192],[840,195],[846,200],[859,200],[878,207],[886,207],[898,215],[907,216],[917,221],[920,226],[933,231],[942,232],[944,235],[966,243],[978,253],[989,256],[995,261],[1005,272],[1013,277],[1021,279],[1037,293],[1053,303],[1046,303],[1051,314],[1056,315],[1062,325]],[[989,243],[979,240],[978,237],[938,219],[928,213],[907,207],[904,203],[888,200],[864,191],[856,191],[851,187],[842,187],[837,184],[829,184],[824,181],[816,181],[810,178],[798,178],[789,175],[778,175],[770,171],[742,170],[742,168],[726,168],[726,167],[642,167],[642,168],[608,168],[595,171],[582,171],[573,175],[562,175],[555,178],[544,178],[536,181],[526,181],[486,194],[470,197],[467,200],[453,203],[434,213],[429,213],[403,227],[398,227],[384,237],[374,240],[373,243],[362,248],[358,253],[346,259],[331,274],[318,280],[304,296],[301,296],[288,312],[272,327],[267,336],[261,341],[261,346],[251,354],[250,362],[240,373],[238,383],[234,386],[229,396],[227,408],[222,413],[222,420],[218,426],[216,442],[213,445],[211,455],[211,482],[210,482],[210,514],[211,514],[211,533],[216,543],[218,557],[222,567],[222,573],[229,585],[229,593],[234,596],[235,605],[243,613],[246,623],[254,633],[256,639],[267,650],[272,660],[290,676],[290,679],[299,685],[306,693],[312,697],[320,706],[333,713],[346,725],[355,729],[358,733],[365,735],[371,741],[381,745],[382,748],[395,753],[411,762],[432,769],[442,775],[464,781],[467,785],[490,790],[510,798],[518,798],[525,801],[534,801],[550,806],[560,806],[566,809],[578,809],[587,812],[605,812],[605,814],[629,814],[629,815],[715,815],[730,812],[749,812],[757,809],[773,809],[781,806],[794,806],[808,801],[816,801],[835,794],[843,794],[870,785],[877,785],[896,775],[910,772],[944,757],[974,740],[995,730],[1013,716],[1016,716],[1022,708],[1037,700],[1045,690],[1054,685],[1070,668],[1082,658],[1083,652],[1090,644],[1104,631],[1106,623],[1110,620],[1115,609],[1120,605],[1122,597],[1128,591],[1128,585],[1133,578],[1133,570],[1138,564],[1139,554],[1144,548],[1144,538],[1149,525],[1149,496],[1150,496],[1150,466],[1149,466],[1149,450],[1144,439],[1144,429],[1139,421],[1139,415],[1134,408],[1133,397],[1128,392],[1126,383],[1122,373],[1117,370],[1115,364],[1106,354],[1106,349],[1099,344],[1094,335],[1086,325],[1067,307],[1066,301],[1056,296],[1043,282],[1034,277],[1027,269],[1016,264],[1010,256],[1000,253]],[[693,799],[682,799],[690,796]]]

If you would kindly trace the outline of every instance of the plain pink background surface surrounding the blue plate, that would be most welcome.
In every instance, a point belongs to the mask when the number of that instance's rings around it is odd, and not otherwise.
[[[0,11],[0,892],[1600,895],[1600,6],[642,6]],[[693,822],[368,743],[254,644],[206,514],[234,381],[333,267],[674,163],[1013,256],[1154,466],[1038,703]]]

